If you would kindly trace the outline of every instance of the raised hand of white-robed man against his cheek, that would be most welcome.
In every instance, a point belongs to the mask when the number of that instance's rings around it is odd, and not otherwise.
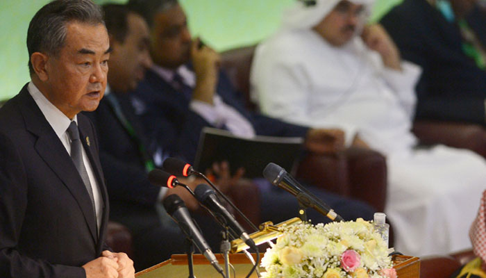
[[[385,67],[401,70],[400,51],[380,24],[365,26],[361,38],[369,49],[381,55]]]

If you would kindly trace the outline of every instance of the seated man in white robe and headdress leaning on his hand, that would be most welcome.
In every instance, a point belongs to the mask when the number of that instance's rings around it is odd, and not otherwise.
[[[484,188],[486,163],[468,151],[414,148],[410,126],[420,70],[401,61],[381,26],[363,26],[371,3],[297,3],[278,33],[256,49],[253,94],[267,115],[340,128],[346,144],[385,154],[385,213],[396,250],[422,256],[466,248],[463,228],[474,215],[471,197]]]

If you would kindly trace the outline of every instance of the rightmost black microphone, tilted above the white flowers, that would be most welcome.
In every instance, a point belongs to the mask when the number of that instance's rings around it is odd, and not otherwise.
[[[324,204],[321,200],[310,193],[309,190],[301,186],[283,167],[275,163],[269,163],[263,170],[263,177],[270,181],[274,186],[278,186],[294,195],[304,206],[314,208],[322,215],[326,215],[330,220],[343,221],[342,217],[335,213],[332,208]]]

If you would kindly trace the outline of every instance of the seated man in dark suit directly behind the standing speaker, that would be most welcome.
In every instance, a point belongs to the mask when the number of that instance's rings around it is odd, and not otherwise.
[[[123,5],[103,6],[110,36],[108,85],[96,111],[86,113],[99,136],[100,160],[110,197],[110,220],[120,222],[133,235],[135,268],[143,270],[185,252],[185,236],[157,204],[165,196],[181,196],[191,211],[199,204],[182,186],[160,188],[149,182],[153,170],[149,141],[133,113],[128,92],[134,90],[151,67],[149,28],[144,19]],[[193,187],[201,183],[181,181]],[[160,206],[160,205],[159,205]],[[161,208],[161,206],[160,206]],[[210,218],[196,213],[204,235],[219,250],[219,229]],[[214,236],[212,236],[214,235]],[[215,250],[215,251],[216,251]]]

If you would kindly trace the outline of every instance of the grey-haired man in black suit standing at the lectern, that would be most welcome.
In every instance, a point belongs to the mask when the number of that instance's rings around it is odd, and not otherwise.
[[[106,245],[94,128],[110,44],[99,7],[53,1],[27,34],[31,82],[0,110],[0,277],[134,277]]]

